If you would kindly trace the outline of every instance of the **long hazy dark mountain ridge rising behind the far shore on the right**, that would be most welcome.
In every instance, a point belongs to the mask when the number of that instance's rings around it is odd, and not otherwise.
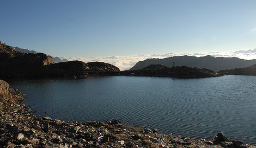
[[[142,69],[150,65],[164,65],[168,67],[173,66],[187,66],[198,67],[214,70],[219,72],[224,69],[243,68],[256,64],[256,60],[243,60],[237,57],[213,57],[210,55],[196,57],[196,56],[173,56],[164,59],[147,59],[139,61],[130,70]]]

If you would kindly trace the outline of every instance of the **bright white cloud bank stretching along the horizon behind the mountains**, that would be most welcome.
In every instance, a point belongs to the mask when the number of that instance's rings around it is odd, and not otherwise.
[[[61,57],[61,59],[67,59],[69,61],[79,60],[83,62],[105,62],[117,66],[120,70],[127,70],[132,68],[138,61],[146,59],[163,59],[171,56],[206,56],[211,55],[214,57],[239,57],[240,59],[252,60],[256,59],[256,48],[249,50],[238,50],[235,52],[210,52],[210,53],[168,53],[168,54],[154,54],[154,55],[131,55],[131,56],[98,56],[98,57]]]

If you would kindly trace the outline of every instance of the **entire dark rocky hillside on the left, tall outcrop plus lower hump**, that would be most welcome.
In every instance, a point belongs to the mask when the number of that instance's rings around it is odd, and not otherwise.
[[[43,53],[21,53],[11,46],[0,43],[0,79],[79,77],[86,78],[89,72],[119,72],[119,68],[103,62],[84,63],[70,61],[54,63],[51,56]]]

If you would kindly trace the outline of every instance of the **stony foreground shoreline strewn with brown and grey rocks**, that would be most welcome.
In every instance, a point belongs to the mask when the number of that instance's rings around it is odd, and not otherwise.
[[[161,134],[157,129],[122,124],[120,120],[85,123],[38,117],[20,105],[23,94],[0,80],[0,147],[256,147],[229,140],[193,140]]]

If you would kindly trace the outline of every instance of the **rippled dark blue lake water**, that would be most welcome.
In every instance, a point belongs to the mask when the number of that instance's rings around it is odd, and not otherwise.
[[[10,82],[41,116],[157,128],[194,139],[223,132],[256,145],[256,76],[172,79],[107,76]]]

